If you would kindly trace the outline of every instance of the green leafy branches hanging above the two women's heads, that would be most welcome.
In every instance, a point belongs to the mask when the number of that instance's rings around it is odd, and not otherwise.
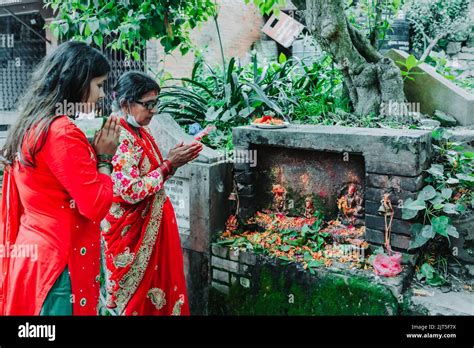
[[[189,32],[215,15],[212,0],[127,0],[62,1],[46,0],[45,6],[57,11],[49,28],[56,37],[95,43],[123,50],[140,60],[139,48],[148,40],[160,39],[169,52],[190,48]]]

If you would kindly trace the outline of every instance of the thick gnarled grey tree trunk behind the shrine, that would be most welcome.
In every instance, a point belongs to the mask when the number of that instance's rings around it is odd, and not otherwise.
[[[400,70],[349,23],[343,0],[292,2],[304,11],[306,27],[321,48],[331,53],[342,67],[344,82],[357,115],[378,115],[382,103],[405,101]]]

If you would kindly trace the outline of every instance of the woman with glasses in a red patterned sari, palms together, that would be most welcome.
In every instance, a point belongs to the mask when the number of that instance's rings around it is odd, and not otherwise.
[[[101,228],[107,307],[119,315],[189,314],[178,226],[163,184],[202,145],[179,144],[163,159],[146,127],[159,91],[140,72],[124,74],[115,88],[122,133],[112,160],[114,201]]]

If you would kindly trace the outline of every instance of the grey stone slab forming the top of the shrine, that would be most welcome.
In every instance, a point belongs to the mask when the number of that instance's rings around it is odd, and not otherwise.
[[[244,126],[234,128],[233,136],[238,149],[270,145],[363,155],[366,171],[388,175],[417,176],[428,167],[432,155],[430,132],[421,130],[310,125],[267,130]]]

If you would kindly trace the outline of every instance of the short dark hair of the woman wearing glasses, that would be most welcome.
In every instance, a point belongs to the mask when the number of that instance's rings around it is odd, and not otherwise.
[[[160,86],[155,80],[141,71],[127,71],[115,84],[112,107],[118,111],[125,103],[133,103],[151,91],[160,93]]]

